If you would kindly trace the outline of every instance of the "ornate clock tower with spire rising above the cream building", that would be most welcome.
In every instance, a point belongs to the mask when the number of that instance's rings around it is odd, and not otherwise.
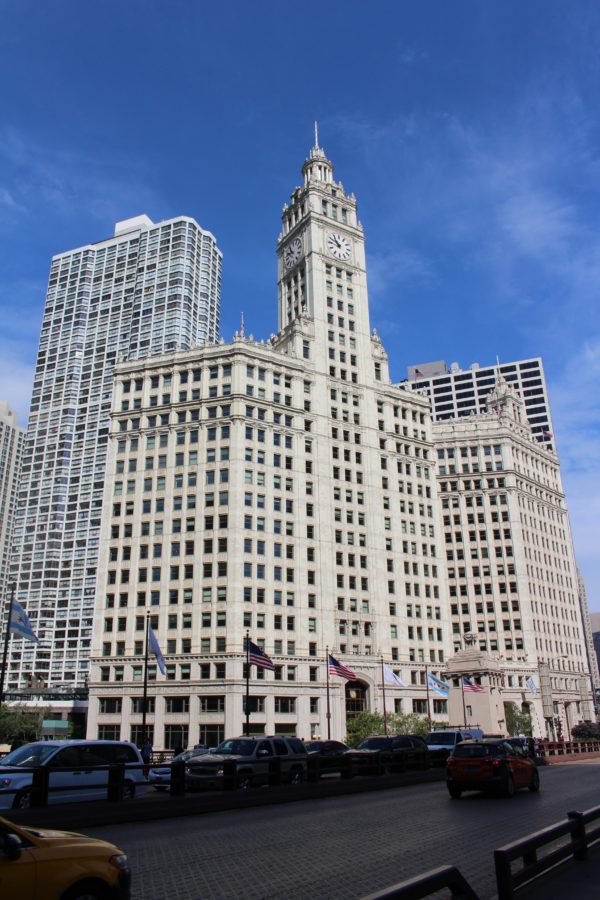
[[[284,349],[291,341],[293,353],[311,359],[317,371],[336,380],[371,381],[363,229],[356,198],[335,181],[316,124],[302,176],[303,185],[284,206],[278,240],[278,345]]]

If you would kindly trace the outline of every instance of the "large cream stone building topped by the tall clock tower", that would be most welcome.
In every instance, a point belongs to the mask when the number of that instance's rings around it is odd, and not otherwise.
[[[279,331],[116,369],[88,734],[139,740],[146,618],[155,747],[243,729],[325,735],[382,709],[381,661],[407,687],[387,708],[426,712],[425,665],[452,644],[425,397],[390,383],[371,330],[356,201],[318,141],[284,208]],[[154,659],[152,658],[152,662]],[[433,704],[432,704],[433,708]],[[446,717],[435,701],[434,717]]]

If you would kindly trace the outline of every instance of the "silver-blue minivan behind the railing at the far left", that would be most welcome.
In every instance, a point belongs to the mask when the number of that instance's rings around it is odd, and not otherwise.
[[[32,769],[38,766],[49,770],[48,803],[105,799],[108,766],[114,763],[125,766],[123,799],[143,791],[142,757],[134,744],[84,740],[24,744],[0,763],[0,809],[31,805]]]

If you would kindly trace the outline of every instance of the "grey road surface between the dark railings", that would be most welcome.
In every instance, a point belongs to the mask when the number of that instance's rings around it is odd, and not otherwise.
[[[599,765],[540,775],[512,799],[450,800],[440,782],[88,833],[127,852],[133,900],[357,900],[445,863],[487,900],[494,848],[600,805]]]

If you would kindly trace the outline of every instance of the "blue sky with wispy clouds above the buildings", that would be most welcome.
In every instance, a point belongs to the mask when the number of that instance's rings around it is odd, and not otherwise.
[[[275,331],[318,119],[392,377],[543,356],[600,610],[598,46],[594,0],[0,0],[0,398],[25,421],[52,254],[139,213],[216,235],[226,339]]]

